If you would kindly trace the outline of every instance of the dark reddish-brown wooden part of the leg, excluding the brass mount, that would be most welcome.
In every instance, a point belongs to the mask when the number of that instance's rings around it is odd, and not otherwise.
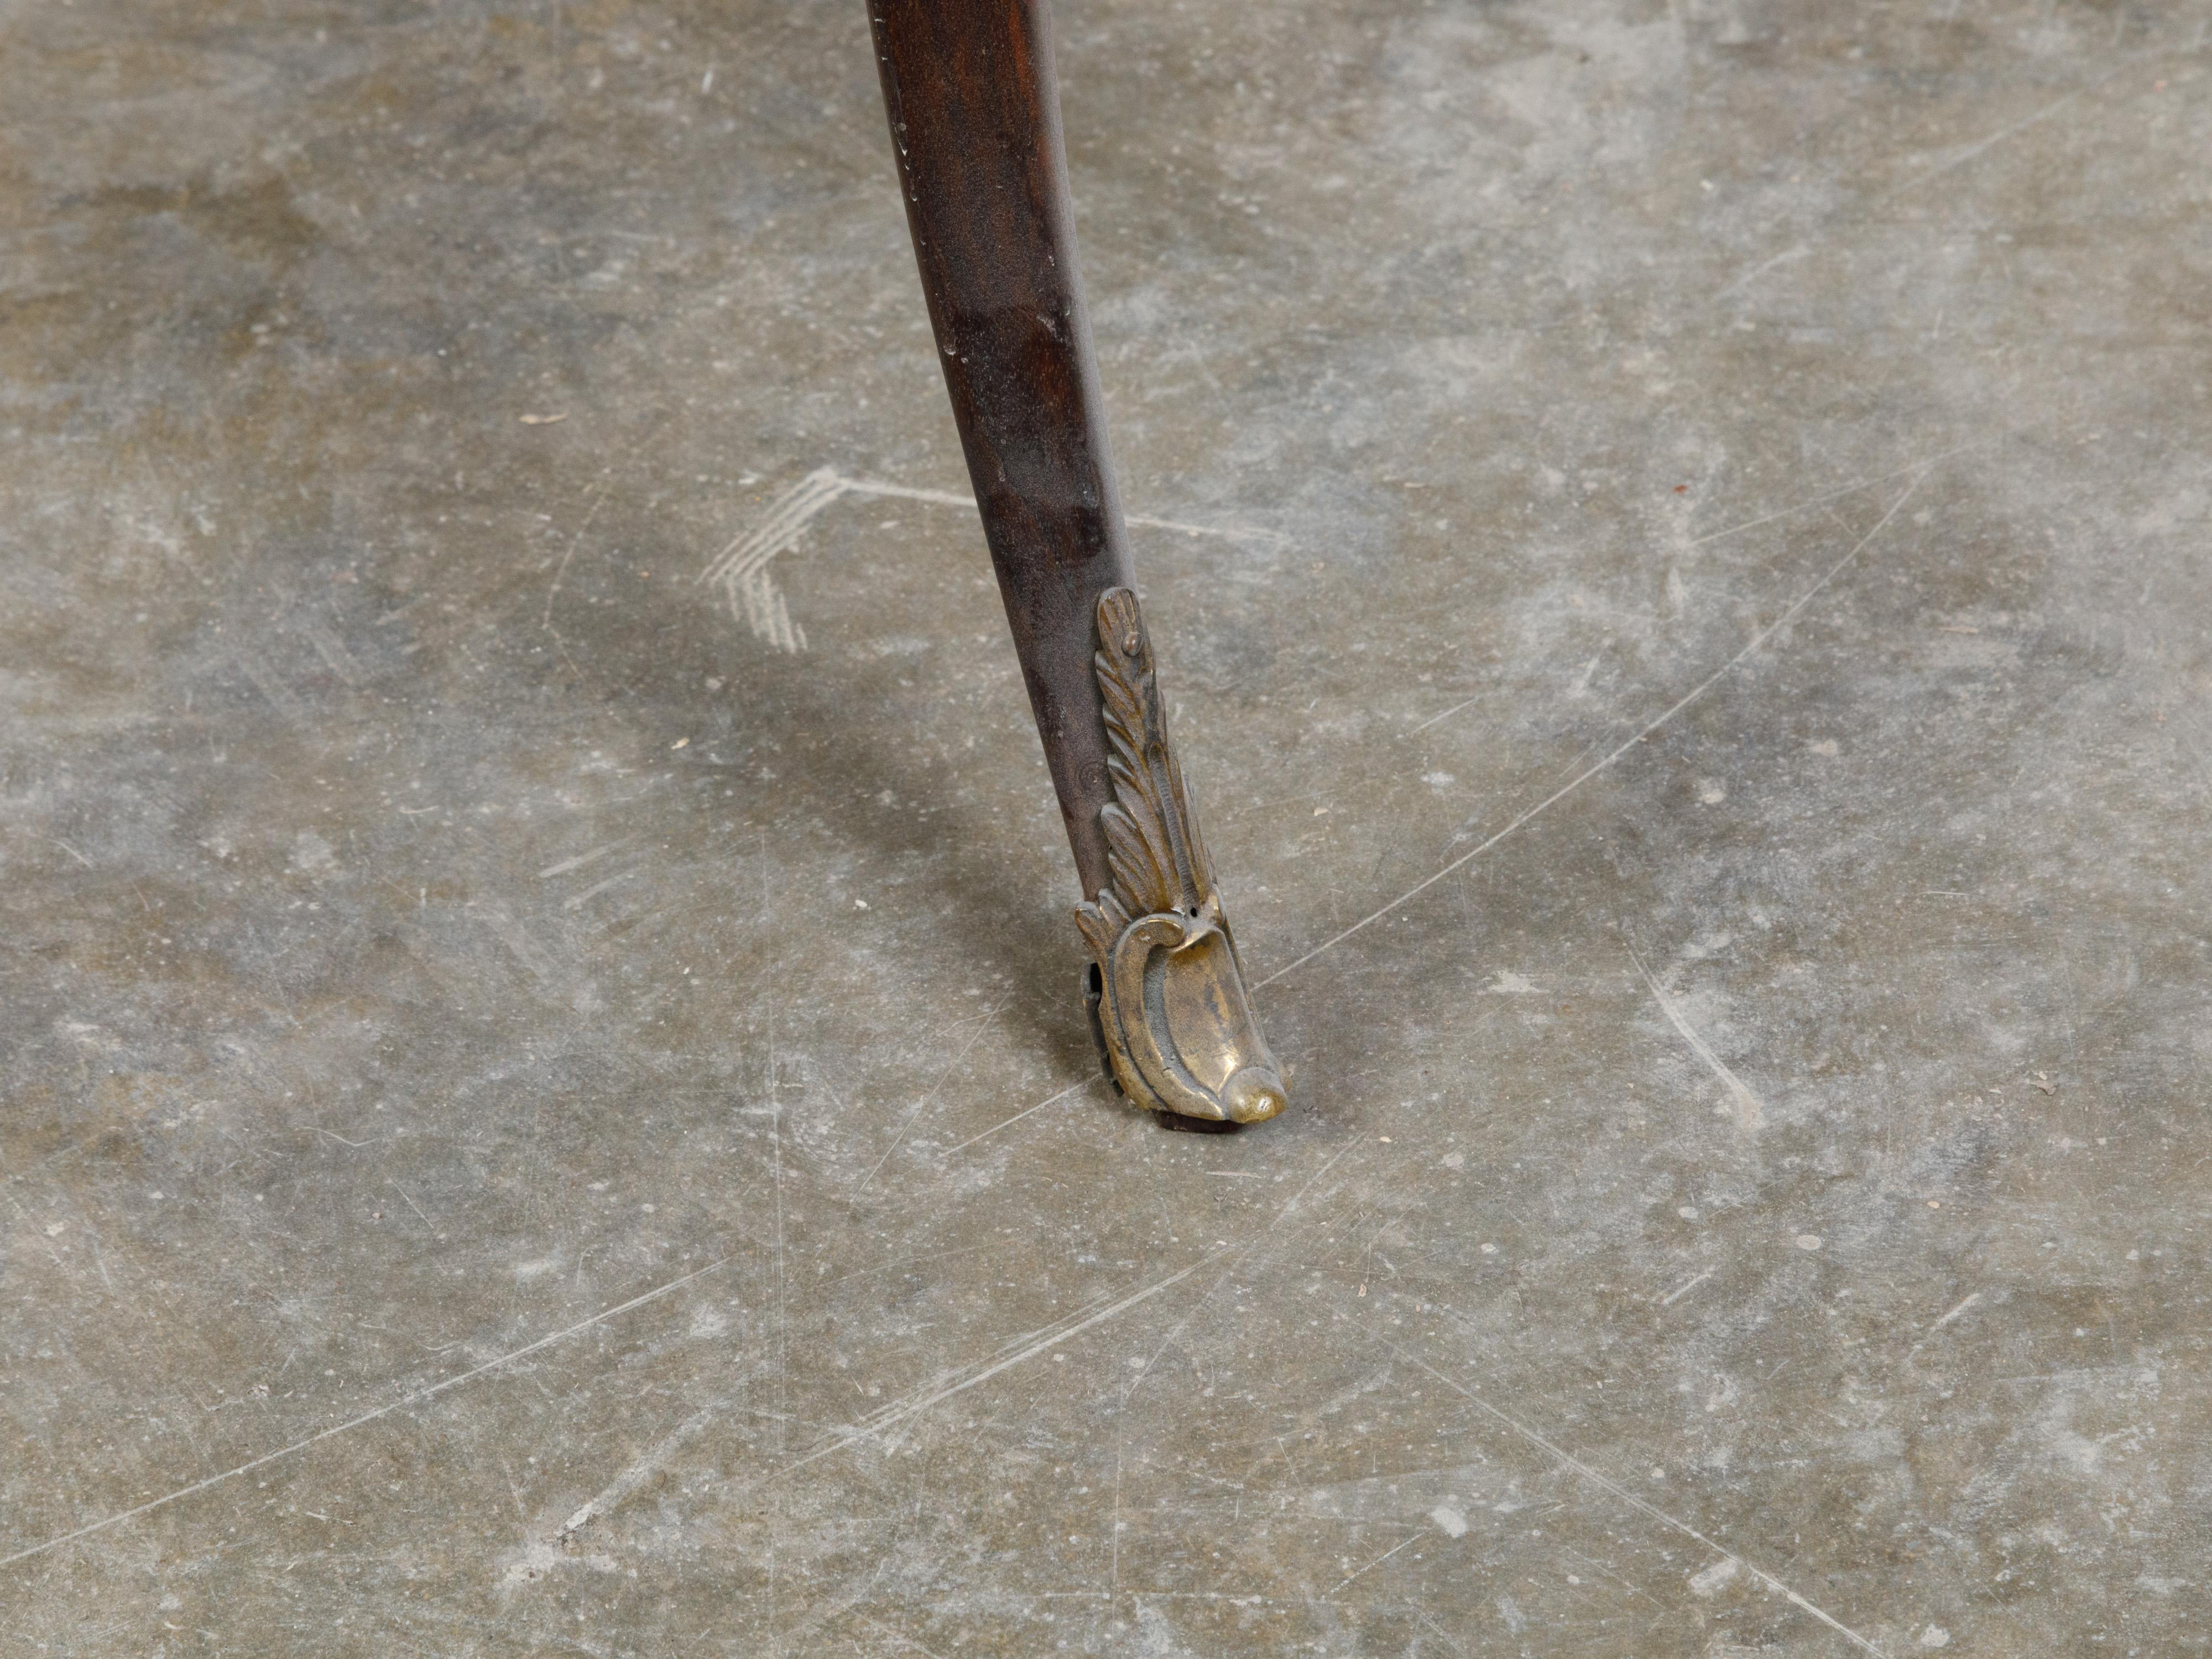
[[[872,0],[891,146],[1022,679],[1084,894],[1113,801],[1091,670],[1097,597],[1130,586],[1037,0]]]

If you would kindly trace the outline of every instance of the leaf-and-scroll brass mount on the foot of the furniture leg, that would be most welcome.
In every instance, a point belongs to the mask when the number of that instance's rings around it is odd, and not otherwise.
[[[1113,880],[1075,925],[1091,945],[1091,1011],[1106,1068],[1139,1106],[1259,1124],[1290,1104],[1243,989],[1214,869],[1168,745],[1152,641],[1137,595],[1097,602],[1097,681],[1106,717],[1099,807]]]

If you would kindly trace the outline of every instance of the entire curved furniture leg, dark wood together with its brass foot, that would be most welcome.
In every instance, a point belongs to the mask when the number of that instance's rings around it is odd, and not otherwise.
[[[1106,453],[1042,0],[869,0],[891,146],[991,564],[1086,894],[1113,1079],[1161,1113],[1274,1117],[1168,743]]]

